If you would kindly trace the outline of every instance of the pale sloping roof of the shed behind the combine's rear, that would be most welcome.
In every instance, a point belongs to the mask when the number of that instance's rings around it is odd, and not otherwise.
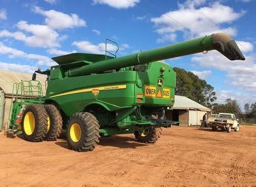
[[[175,102],[172,109],[211,111],[211,109],[184,96],[175,96]]]

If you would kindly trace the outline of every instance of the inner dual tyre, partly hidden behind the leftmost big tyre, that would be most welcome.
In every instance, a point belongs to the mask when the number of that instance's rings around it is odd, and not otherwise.
[[[49,116],[47,125],[46,141],[56,141],[62,133],[62,115],[54,105],[44,105]]]

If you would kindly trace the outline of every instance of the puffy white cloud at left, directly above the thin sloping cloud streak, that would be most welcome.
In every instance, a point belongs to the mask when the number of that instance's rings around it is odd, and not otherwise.
[[[58,41],[63,39],[56,31],[45,25],[29,25],[27,21],[19,21],[17,27],[29,34],[2,30],[0,31],[0,37],[13,37],[16,40],[24,41],[29,46],[42,48],[60,46]]]

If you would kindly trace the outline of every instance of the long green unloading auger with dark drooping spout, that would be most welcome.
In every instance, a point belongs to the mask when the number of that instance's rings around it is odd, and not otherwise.
[[[69,76],[83,76],[92,73],[102,73],[111,69],[120,69],[153,61],[181,57],[204,51],[217,50],[229,60],[245,60],[237,43],[226,33],[216,33],[208,36],[167,45],[162,48],[140,52],[120,58],[103,60],[79,68],[69,70]]]

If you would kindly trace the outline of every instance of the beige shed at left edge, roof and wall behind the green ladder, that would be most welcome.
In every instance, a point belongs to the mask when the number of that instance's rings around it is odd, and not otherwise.
[[[0,70],[0,131],[3,127],[9,127],[9,114],[12,103],[12,89],[13,83],[19,83],[22,80],[31,80],[32,74],[10,72]],[[46,92],[46,76],[38,75],[36,80],[40,81],[43,88],[43,95]]]

